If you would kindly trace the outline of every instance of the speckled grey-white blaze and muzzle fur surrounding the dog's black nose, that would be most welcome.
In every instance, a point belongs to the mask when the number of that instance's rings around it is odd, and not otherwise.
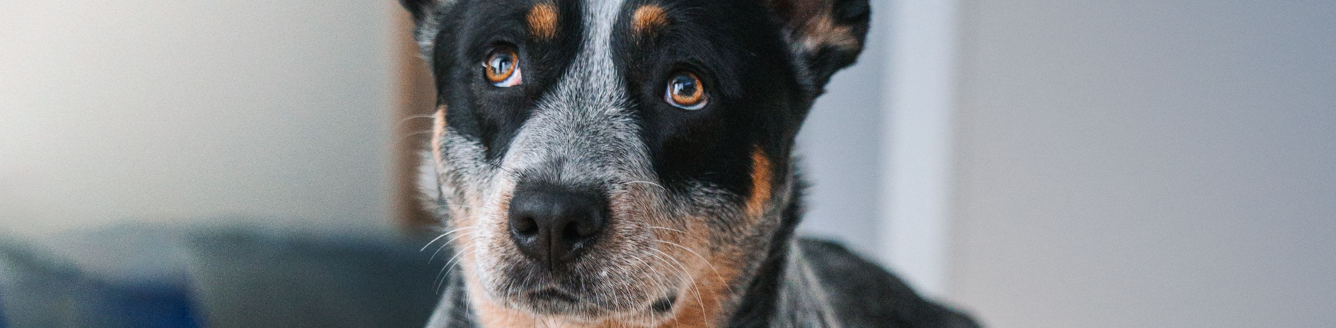
[[[612,61],[612,29],[621,1],[589,0],[584,8],[588,9],[578,60],[537,101],[500,167],[485,161],[476,140],[445,131],[442,143],[433,145],[442,153],[442,159],[434,160],[437,179],[424,181],[440,183],[440,195],[446,197],[438,203],[446,215],[477,220],[476,232],[469,236],[472,249],[461,248],[466,251],[461,256],[477,264],[474,273],[488,297],[536,312],[550,309],[522,303],[522,295],[514,291],[514,277],[501,275],[524,263],[509,240],[508,220],[501,211],[509,195],[521,179],[605,189],[613,220],[600,247],[584,256],[588,260],[580,269],[613,279],[589,280],[588,296],[601,308],[568,311],[635,315],[664,297],[663,292],[680,289],[687,277],[655,251],[656,235],[649,227],[664,225],[672,213],[667,195],[656,188],[657,176]],[[645,288],[647,284],[659,288]]]

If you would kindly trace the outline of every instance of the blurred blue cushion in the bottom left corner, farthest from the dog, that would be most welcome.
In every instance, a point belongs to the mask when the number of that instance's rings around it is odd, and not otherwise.
[[[195,328],[179,247],[144,227],[0,243],[12,327]]]

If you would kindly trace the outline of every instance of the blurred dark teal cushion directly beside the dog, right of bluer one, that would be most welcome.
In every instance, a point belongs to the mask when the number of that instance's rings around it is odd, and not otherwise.
[[[263,227],[188,233],[199,313],[211,328],[420,328],[446,253],[425,240]]]

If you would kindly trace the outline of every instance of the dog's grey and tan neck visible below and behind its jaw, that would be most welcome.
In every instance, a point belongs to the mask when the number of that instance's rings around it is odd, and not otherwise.
[[[792,177],[796,181],[796,177]],[[663,320],[660,327],[729,327],[729,328],[760,328],[760,327],[836,327],[827,313],[826,297],[820,295],[824,288],[810,269],[807,259],[795,239],[795,228],[800,221],[802,208],[798,195],[802,192],[795,183],[792,188],[784,188],[784,195],[774,197],[775,209],[770,220],[778,221],[779,228],[770,236],[770,249],[758,259],[754,269],[739,272],[732,279],[736,285],[716,285],[715,297],[707,297],[704,304],[693,304],[699,299],[683,300],[684,304],[675,317]],[[504,309],[485,300],[470,300],[469,295],[481,291],[469,291],[468,277],[462,271],[452,271],[445,277],[441,304],[432,315],[428,328],[509,328],[509,327],[542,327],[541,320],[534,320],[525,313]],[[743,287],[743,288],[739,288]],[[540,324],[541,323],[541,324]],[[625,325],[627,323],[600,323],[588,325],[601,327],[640,327]],[[569,323],[561,327],[576,327]]]

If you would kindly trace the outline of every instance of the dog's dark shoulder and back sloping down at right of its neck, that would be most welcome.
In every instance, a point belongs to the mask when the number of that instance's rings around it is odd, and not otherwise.
[[[798,245],[843,327],[978,327],[969,316],[919,296],[891,272],[840,244],[802,239]]]

